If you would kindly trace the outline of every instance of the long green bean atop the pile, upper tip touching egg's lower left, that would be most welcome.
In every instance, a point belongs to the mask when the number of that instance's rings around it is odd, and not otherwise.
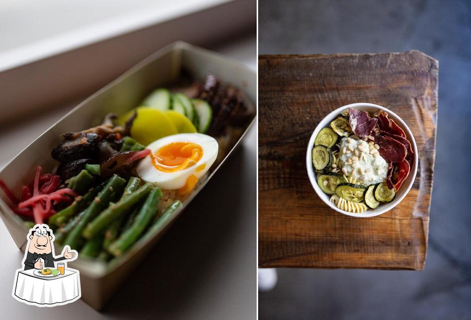
[[[86,239],[92,239],[96,234],[106,228],[111,221],[128,212],[133,205],[145,198],[152,188],[150,183],[146,183],[124,199],[119,200],[116,204],[110,205],[87,226],[83,231],[83,236]]]

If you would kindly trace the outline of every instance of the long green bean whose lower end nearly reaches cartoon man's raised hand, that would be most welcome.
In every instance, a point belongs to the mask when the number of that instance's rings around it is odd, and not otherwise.
[[[89,207],[85,210],[85,214],[79,223],[75,226],[74,229],[67,235],[64,243],[69,245],[72,249],[78,249],[77,245],[79,240],[84,232],[84,229],[87,227],[87,224],[92,221],[104,208],[106,208],[111,200],[112,196],[116,194],[121,194],[126,180],[120,178],[117,175],[113,175],[109,179],[108,183],[104,186],[103,190],[98,193]],[[114,207],[114,206],[113,206]],[[91,239],[92,237],[88,238]]]

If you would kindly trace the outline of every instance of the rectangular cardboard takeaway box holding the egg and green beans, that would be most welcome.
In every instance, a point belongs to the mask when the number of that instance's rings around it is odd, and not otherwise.
[[[40,135],[34,142],[21,151],[0,171],[0,179],[8,182],[12,190],[27,185],[34,176],[35,166],[52,170],[55,160],[51,150],[58,143],[59,136],[65,132],[80,131],[100,123],[110,113],[122,114],[136,106],[153,88],[176,81],[182,72],[189,72],[196,79],[203,79],[208,73],[218,76],[221,82],[240,88],[251,102],[256,101],[256,72],[222,55],[201,49],[184,42],[176,42],[157,51],[135,65],[123,75],[112,81],[87,98],[61,120]],[[255,123],[255,114],[250,119],[240,138],[230,148],[227,155],[209,172],[206,180],[197,185],[183,201],[183,206],[172,219],[162,225],[151,237],[140,239],[131,249],[106,264],[84,259],[79,256],[69,265],[80,271],[82,299],[96,310],[101,309],[127,275],[148,254],[151,248],[165,234],[187,204],[201,191],[221,165],[240,145],[249,128]],[[0,192],[0,215],[16,246],[25,251],[28,232],[26,226],[11,209],[8,198]],[[56,253],[62,248],[56,246]]]

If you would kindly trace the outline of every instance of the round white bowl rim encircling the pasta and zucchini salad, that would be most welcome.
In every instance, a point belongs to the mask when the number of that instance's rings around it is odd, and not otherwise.
[[[317,136],[317,133],[319,133],[319,131],[322,128],[328,127],[332,120],[337,118],[342,112],[344,112],[348,108],[354,108],[357,110],[368,111],[368,112],[376,112],[379,109],[379,110],[387,112],[387,114],[389,115],[389,118],[394,120],[394,122],[404,130],[405,134],[407,135],[407,139],[409,139],[409,141],[412,143],[412,148],[414,150],[414,163],[412,165],[412,168],[410,168],[410,173],[407,176],[407,179],[402,184],[402,187],[397,192],[394,199],[391,202],[381,203],[376,209],[369,208],[364,213],[347,212],[347,211],[337,208],[335,204],[330,202],[330,195],[327,193],[324,193],[317,185],[316,173],[314,171],[314,168],[312,167],[312,148],[314,147],[314,140]],[[414,183],[415,175],[417,174],[417,163],[418,163],[417,144],[415,143],[414,136],[412,135],[412,132],[410,131],[409,127],[407,127],[405,122],[402,121],[402,119],[399,118],[399,116],[397,116],[395,113],[393,113],[389,109],[386,109],[384,107],[371,104],[371,103],[353,103],[350,105],[340,107],[332,111],[331,113],[329,113],[324,119],[322,119],[321,122],[319,122],[317,127],[312,132],[312,135],[311,135],[311,138],[309,139],[309,143],[307,144],[307,150],[306,150],[307,175],[309,176],[309,181],[311,182],[311,185],[314,188],[317,195],[322,199],[322,201],[324,201],[325,204],[327,204],[329,207],[331,207],[335,211],[352,216],[352,217],[358,217],[358,218],[375,217],[386,211],[391,210],[393,207],[398,205],[399,202],[401,202],[402,199],[406,196],[407,192],[409,192],[410,188],[412,187],[412,184]]]

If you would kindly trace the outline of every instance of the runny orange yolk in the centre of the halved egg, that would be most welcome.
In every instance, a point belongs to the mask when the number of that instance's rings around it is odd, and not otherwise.
[[[157,170],[175,172],[195,165],[203,156],[203,148],[192,142],[172,142],[150,156]]]

